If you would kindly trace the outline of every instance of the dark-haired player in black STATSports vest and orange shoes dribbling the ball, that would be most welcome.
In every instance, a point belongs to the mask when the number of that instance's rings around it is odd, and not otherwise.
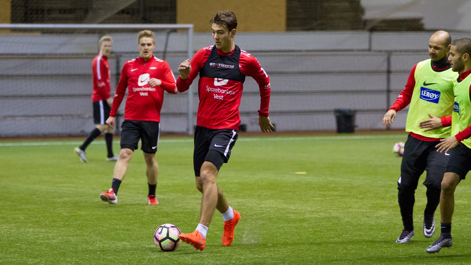
[[[240,124],[239,105],[245,76],[251,76],[259,85],[259,125],[262,132],[272,132],[275,127],[268,118],[270,79],[256,58],[234,44],[237,19],[230,10],[219,11],[211,19],[211,32],[215,45],[196,52],[191,62],[179,65],[177,88],[187,91],[196,75],[199,106],[195,129],[193,164],[196,188],[203,193],[201,217],[195,232],[182,233],[180,239],[203,250],[206,232],[214,209],[224,219],[222,244],[229,246],[234,239],[235,224],[240,214],[227,203],[216,184],[218,172],[229,160],[237,140]]]

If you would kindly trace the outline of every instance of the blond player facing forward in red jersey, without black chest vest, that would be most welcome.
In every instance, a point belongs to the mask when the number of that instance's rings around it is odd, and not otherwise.
[[[166,61],[153,55],[155,48],[154,34],[144,30],[138,34],[139,57],[127,61],[122,66],[121,77],[114,94],[113,106],[106,124],[114,128],[116,111],[128,88],[128,98],[124,108],[124,122],[121,132],[121,151],[114,166],[112,188],[100,194],[100,198],[110,204],[116,204],[119,186],[128,169],[129,161],[138,148],[146,160],[146,176],[149,186],[148,204],[159,204],[155,198],[158,165],[155,152],[159,141],[160,110],[163,91],[177,93],[175,76]]]

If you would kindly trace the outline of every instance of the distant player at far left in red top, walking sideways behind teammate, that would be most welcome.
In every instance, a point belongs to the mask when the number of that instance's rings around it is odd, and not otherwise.
[[[113,129],[105,124],[110,113],[111,104],[113,104],[113,98],[110,97],[111,75],[110,66],[108,65],[108,56],[111,53],[112,45],[113,38],[111,38],[111,36],[101,37],[100,41],[98,41],[100,52],[97,57],[93,59],[93,93],[91,100],[93,102],[93,121],[96,124],[96,128],[90,132],[89,137],[81,146],[74,149],[82,162],[88,162],[85,156],[85,149],[102,132],[105,132],[106,149],[108,151],[106,160],[118,160],[118,156],[113,154]]]

